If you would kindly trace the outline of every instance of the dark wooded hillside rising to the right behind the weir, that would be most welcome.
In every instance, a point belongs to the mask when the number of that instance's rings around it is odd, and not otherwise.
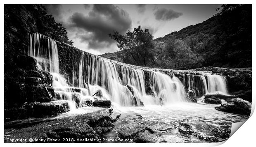
[[[154,39],[152,52],[154,62],[147,67],[251,67],[251,5],[223,5],[202,23]],[[119,51],[100,56],[126,62],[122,55]]]

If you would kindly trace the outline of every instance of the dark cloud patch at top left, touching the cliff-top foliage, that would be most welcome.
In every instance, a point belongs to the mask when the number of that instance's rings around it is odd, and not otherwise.
[[[62,23],[62,17],[63,17],[63,7],[59,4],[45,4],[44,5],[48,14],[52,14],[52,16],[55,18],[55,21],[58,23]]]

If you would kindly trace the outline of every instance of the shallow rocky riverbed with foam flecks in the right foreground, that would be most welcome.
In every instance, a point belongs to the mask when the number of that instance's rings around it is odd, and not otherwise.
[[[220,142],[230,134],[229,125],[218,127],[204,120],[189,119],[166,121],[160,117],[149,119],[139,114],[122,114],[116,126],[101,137],[129,139],[126,142]]]

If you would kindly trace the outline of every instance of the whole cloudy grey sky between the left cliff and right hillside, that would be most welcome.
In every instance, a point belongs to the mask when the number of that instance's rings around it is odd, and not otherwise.
[[[73,46],[100,55],[118,50],[109,33],[125,34],[139,25],[154,39],[216,14],[221,5],[45,5],[68,31]]]

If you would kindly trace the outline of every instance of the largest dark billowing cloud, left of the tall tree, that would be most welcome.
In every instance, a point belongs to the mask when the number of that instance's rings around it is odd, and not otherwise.
[[[108,34],[114,30],[124,34],[132,24],[129,14],[114,5],[93,5],[88,16],[74,13],[69,20],[69,28],[82,29],[86,35],[80,34],[79,38],[95,49],[110,46],[114,40]]]

